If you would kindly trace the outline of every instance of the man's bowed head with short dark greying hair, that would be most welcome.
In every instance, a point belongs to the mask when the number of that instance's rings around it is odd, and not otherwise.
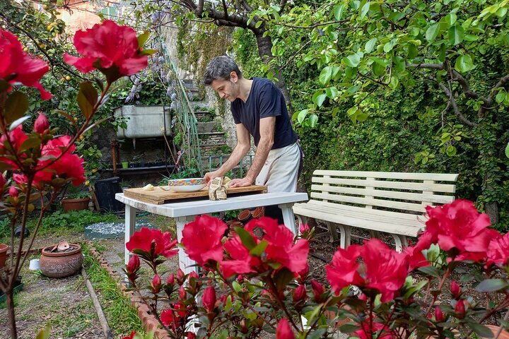
[[[233,102],[239,95],[239,79],[242,72],[235,61],[226,55],[213,58],[206,66],[204,74],[205,85],[210,85],[220,97]]]

